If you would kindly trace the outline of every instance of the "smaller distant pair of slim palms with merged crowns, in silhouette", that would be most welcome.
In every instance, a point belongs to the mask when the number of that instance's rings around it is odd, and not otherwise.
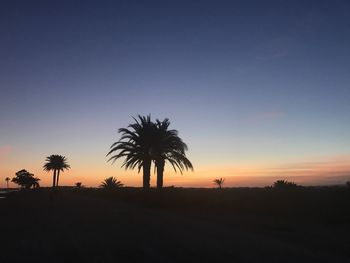
[[[56,187],[58,186],[60,171],[64,172],[64,170],[70,169],[70,165],[65,156],[58,154],[52,154],[46,157],[45,161],[46,163],[44,164],[43,169],[47,172],[53,171],[52,187]]]

